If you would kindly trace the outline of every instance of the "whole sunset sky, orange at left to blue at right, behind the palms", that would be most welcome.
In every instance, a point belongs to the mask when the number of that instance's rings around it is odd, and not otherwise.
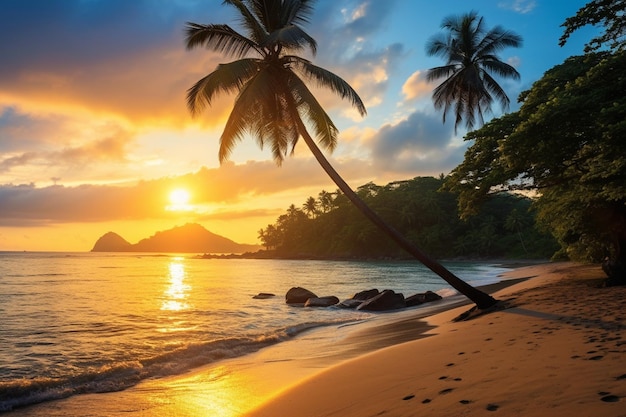
[[[318,0],[304,29],[316,65],[346,80],[367,108],[315,90],[340,130],[330,162],[358,188],[449,173],[470,145],[433,107],[424,73],[444,62],[425,45],[451,15],[476,11],[520,35],[499,53],[520,80],[499,80],[511,105],[567,57],[560,27],[588,0]],[[233,96],[192,117],[185,95],[232,59],[187,50],[186,22],[229,24],[221,0],[0,0],[0,250],[89,251],[106,232],[136,243],[200,223],[239,243],[289,205],[337,189],[302,141],[279,167],[245,138],[220,165]],[[449,118],[452,119],[453,118]],[[173,197],[178,196],[178,198]]]

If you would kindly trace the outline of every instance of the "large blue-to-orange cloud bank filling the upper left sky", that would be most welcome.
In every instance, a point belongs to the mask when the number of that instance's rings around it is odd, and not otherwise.
[[[0,106],[82,111],[133,124],[188,122],[186,90],[219,62],[205,50],[185,50],[184,22],[198,15],[191,6],[8,0],[0,17],[0,37],[11,39],[0,43]],[[214,9],[211,19],[226,19],[226,8]],[[211,124],[224,114],[206,116],[202,121]]]

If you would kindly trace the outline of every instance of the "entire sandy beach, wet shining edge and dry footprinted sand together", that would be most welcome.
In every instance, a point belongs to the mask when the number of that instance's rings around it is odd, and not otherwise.
[[[470,321],[452,321],[467,301],[426,318],[418,310],[382,315],[15,414],[624,417],[626,288],[597,288],[603,276],[594,265],[522,267],[489,289],[507,308]]]

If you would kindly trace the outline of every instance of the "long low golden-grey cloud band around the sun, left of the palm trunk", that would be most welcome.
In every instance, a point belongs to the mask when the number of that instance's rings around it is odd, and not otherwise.
[[[167,218],[172,215],[165,210],[167,196],[173,188],[180,187],[192,190],[193,204],[200,208],[204,205],[222,207],[218,210],[221,218],[241,217],[246,212],[259,216],[268,209],[242,212],[227,207],[328,182],[317,162],[309,158],[285,162],[281,168],[270,161],[226,163],[220,168],[203,168],[192,174],[124,186],[5,184],[0,186],[0,226]],[[201,210],[199,215],[205,216]]]

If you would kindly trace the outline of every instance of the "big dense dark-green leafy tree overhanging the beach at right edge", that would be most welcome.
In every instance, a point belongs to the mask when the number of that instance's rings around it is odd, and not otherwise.
[[[475,212],[493,191],[534,191],[539,218],[570,258],[608,256],[623,268],[624,74],[626,51],[571,57],[520,96],[519,112],[470,132],[474,144],[448,180],[460,192],[462,213]]]

